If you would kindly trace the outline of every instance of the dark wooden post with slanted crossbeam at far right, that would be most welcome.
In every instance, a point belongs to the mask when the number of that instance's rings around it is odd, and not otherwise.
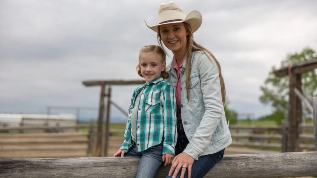
[[[289,76],[289,107],[288,107],[288,136],[287,152],[299,151],[299,125],[301,123],[301,99],[296,95],[301,90],[301,74],[317,68],[317,59],[302,64],[296,64],[274,71],[277,77]]]

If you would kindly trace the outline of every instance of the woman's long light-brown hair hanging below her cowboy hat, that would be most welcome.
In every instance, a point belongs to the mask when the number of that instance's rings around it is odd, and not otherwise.
[[[186,43],[186,51],[187,51],[186,59],[187,59],[187,61],[186,61],[186,70],[185,70],[185,72],[186,72],[187,101],[188,101],[188,96],[189,96],[189,91],[188,91],[189,80],[191,78],[191,60],[189,60],[189,59],[191,59],[191,53],[194,52],[194,51],[204,51],[205,54],[206,53],[210,54],[210,56],[216,61],[217,67],[219,68],[221,96],[222,96],[222,103],[224,104],[225,99],[226,99],[226,88],[225,88],[225,85],[224,85],[223,77],[222,77],[222,74],[221,74],[221,67],[220,67],[220,64],[219,64],[218,60],[216,59],[216,57],[213,54],[211,54],[211,52],[208,49],[204,48],[203,46],[197,44],[194,41],[194,35],[193,35],[192,30],[191,30],[191,26],[188,23],[186,23],[186,22],[183,22],[183,24],[184,24],[184,27],[185,27],[186,31],[189,32],[189,35],[187,35],[187,37],[186,37],[187,38],[187,43]],[[161,38],[159,27],[158,27],[157,41],[158,41],[160,47],[163,48],[163,50],[165,51],[165,49],[163,47],[163,44],[162,44],[162,38]],[[166,53],[166,51],[165,51],[165,53]],[[207,55],[207,57],[209,58],[208,55]]]

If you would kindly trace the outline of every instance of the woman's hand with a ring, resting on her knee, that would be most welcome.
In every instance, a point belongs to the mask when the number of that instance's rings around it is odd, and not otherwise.
[[[177,176],[179,170],[182,170],[180,178],[184,178],[184,174],[187,168],[188,177],[191,177],[191,166],[193,165],[194,161],[195,159],[193,157],[189,156],[187,153],[184,153],[184,152],[175,156],[174,160],[172,161],[172,166],[171,166],[170,172],[168,173],[168,176],[171,176],[175,169],[173,178]]]

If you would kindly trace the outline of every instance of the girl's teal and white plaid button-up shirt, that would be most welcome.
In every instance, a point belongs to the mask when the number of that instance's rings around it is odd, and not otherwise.
[[[142,94],[139,106],[137,106],[139,109],[136,124],[136,146],[138,151],[144,151],[163,141],[163,154],[175,155],[177,141],[175,91],[161,77],[134,90],[129,107],[129,118],[126,123],[124,142],[120,149],[127,152],[132,147],[131,110],[140,91],[142,91]]]

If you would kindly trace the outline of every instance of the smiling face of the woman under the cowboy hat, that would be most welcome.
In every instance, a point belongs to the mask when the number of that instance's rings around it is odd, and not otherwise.
[[[183,23],[160,25],[159,30],[161,39],[168,49],[170,49],[173,53],[185,53],[187,43],[186,37],[189,32],[187,32]]]

